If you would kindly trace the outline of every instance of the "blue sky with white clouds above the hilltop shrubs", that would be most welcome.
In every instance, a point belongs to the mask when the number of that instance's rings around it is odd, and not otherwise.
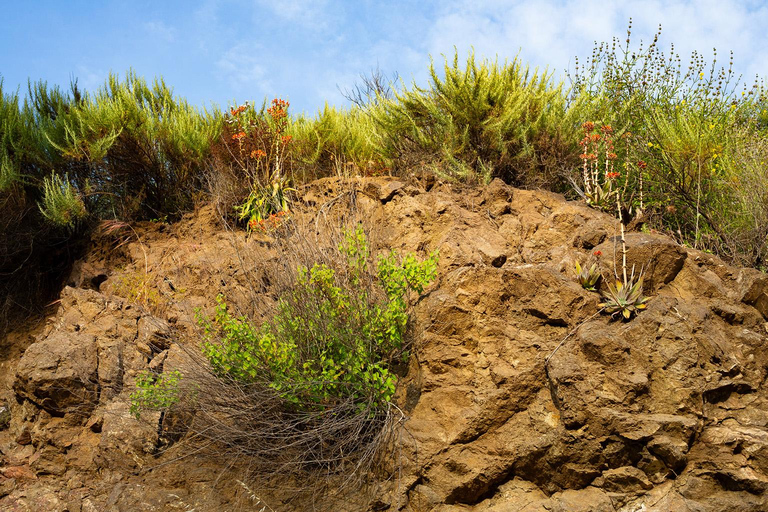
[[[521,57],[560,75],[595,40],[648,41],[687,57],[718,49],[750,79],[768,75],[768,2],[490,0],[163,0],[3,2],[4,89],[27,78],[92,90],[109,71],[162,75],[176,94],[204,105],[280,96],[294,112],[343,105],[339,88],[378,67],[424,83],[429,56]]]

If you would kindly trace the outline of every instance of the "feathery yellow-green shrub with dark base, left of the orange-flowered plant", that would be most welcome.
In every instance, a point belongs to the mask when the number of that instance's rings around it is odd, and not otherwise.
[[[110,74],[96,93],[58,112],[45,134],[64,158],[82,164],[81,185],[100,193],[102,209],[177,215],[200,189],[219,117],[174,98],[162,80],[150,86],[129,72],[122,81]],[[138,205],[130,201],[136,197]]]

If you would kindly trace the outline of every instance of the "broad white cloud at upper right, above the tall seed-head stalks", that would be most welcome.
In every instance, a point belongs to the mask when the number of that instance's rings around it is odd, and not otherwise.
[[[428,31],[426,48],[433,55],[464,56],[474,47],[478,56],[512,57],[519,49],[524,60],[548,66],[559,74],[591,54],[594,41],[626,38],[633,18],[633,43],[647,43],[661,23],[662,48],[675,49],[685,63],[693,50],[705,58],[718,48],[718,61],[727,64],[728,51],[735,53],[735,68],[753,76],[768,73],[768,6],[737,0],[672,2],[598,0],[448,2],[438,10]]]

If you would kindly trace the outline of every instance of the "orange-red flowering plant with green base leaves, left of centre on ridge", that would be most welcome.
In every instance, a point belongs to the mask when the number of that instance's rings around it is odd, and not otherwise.
[[[268,231],[263,228],[282,222],[290,210],[294,189],[289,187],[293,143],[293,136],[287,133],[289,106],[275,98],[268,108],[265,104],[257,112],[246,103],[230,108],[225,121],[224,140],[236,168],[250,185],[248,196],[235,206],[238,219],[249,231]]]

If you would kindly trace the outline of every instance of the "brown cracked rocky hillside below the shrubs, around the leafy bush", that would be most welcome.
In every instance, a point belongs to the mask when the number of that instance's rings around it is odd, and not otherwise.
[[[439,279],[415,309],[397,477],[314,510],[768,510],[764,274],[629,233],[651,299],[622,322],[573,277],[615,251],[615,220],[582,203],[500,181],[326,179],[301,215],[342,196],[379,247],[438,249]],[[95,239],[50,315],[0,342],[0,510],[312,509],[129,413],[137,373],[183,368],[194,309],[241,293],[247,249],[269,239],[210,208],[123,233]]]

